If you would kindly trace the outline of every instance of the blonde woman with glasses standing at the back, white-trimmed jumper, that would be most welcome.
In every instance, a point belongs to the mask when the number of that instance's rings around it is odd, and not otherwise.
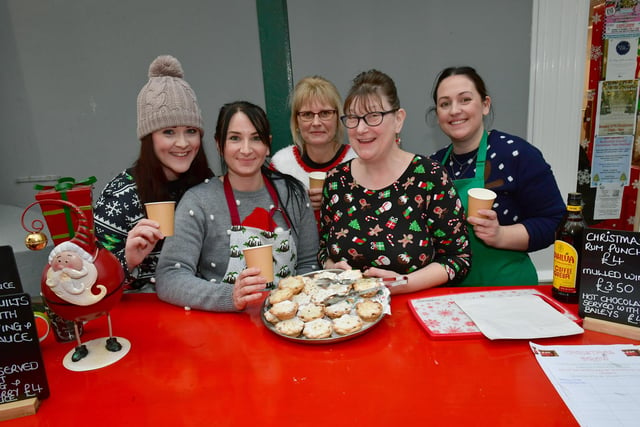
[[[326,172],[356,156],[343,144],[340,126],[342,100],[333,83],[320,76],[305,77],[291,95],[291,135],[295,145],[279,150],[271,159],[273,168],[296,177],[309,191],[319,215],[322,189],[309,189],[310,172]]]

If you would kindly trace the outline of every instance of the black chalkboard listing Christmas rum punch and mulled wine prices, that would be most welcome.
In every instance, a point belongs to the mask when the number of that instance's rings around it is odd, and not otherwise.
[[[580,316],[640,327],[640,233],[584,233]]]

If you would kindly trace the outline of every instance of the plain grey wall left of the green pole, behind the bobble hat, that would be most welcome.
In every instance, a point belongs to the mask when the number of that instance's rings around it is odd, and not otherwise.
[[[136,96],[157,55],[182,62],[211,160],[220,106],[264,104],[254,0],[0,0],[0,28],[1,203],[33,201],[16,178],[95,175],[99,192],[129,166]]]

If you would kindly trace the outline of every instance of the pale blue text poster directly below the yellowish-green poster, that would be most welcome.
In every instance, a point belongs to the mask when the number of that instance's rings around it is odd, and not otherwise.
[[[598,136],[591,159],[591,187],[629,185],[633,136]]]

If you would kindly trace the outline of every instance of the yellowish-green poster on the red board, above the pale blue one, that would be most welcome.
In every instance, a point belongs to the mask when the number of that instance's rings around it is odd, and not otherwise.
[[[601,81],[596,135],[634,135],[638,108],[638,80]]]

